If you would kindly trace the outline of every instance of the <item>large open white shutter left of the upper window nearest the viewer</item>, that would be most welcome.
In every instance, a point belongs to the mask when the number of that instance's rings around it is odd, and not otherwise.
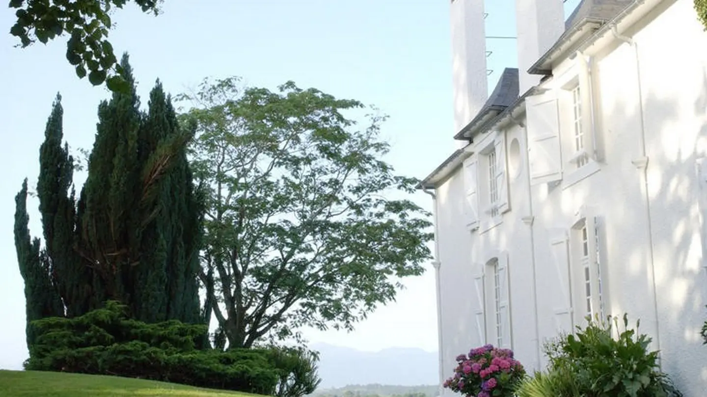
[[[562,179],[560,123],[553,93],[527,97],[528,160],[530,183],[542,184]]]

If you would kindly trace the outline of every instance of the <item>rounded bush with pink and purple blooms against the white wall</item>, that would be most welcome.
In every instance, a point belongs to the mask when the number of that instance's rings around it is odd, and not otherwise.
[[[513,350],[484,345],[457,357],[459,365],[444,387],[469,397],[511,397],[525,369],[513,358]]]

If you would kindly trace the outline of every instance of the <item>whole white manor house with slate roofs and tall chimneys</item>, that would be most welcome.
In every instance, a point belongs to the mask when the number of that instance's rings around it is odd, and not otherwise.
[[[583,0],[565,20],[563,0],[516,0],[520,67],[491,95],[484,1],[450,8],[458,145],[419,186],[434,198],[440,383],[485,343],[542,369],[545,340],[627,313],[684,395],[707,396],[707,32],[693,1]]]

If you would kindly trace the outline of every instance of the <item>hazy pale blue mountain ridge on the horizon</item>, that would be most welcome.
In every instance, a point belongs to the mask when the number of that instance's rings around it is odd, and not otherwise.
[[[314,343],[310,348],[320,352],[320,389],[356,384],[419,386],[439,383],[437,352],[418,348],[364,352],[327,343]]]

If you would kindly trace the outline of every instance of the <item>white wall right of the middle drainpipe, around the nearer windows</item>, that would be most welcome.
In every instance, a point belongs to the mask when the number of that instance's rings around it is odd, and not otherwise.
[[[550,305],[557,296],[552,269],[544,266],[552,260],[549,238],[571,227],[575,211],[588,205],[602,222],[607,314],[626,312],[631,326],[641,319],[641,333],[653,338],[651,348],[662,351],[662,369],[686,397],[702,397],[707,390],[707,347],[699,338],[707,319],[707,183],[697,168],[707,157],[707,54],[693,48],[707,47],[707,33],[689,0],[664,1],[621,33],[636,42],[638,69],[633,47],[624,42],[605,40],[590,48],[601,170],[572,186],[532,187],[541,337],[554,333]],[[556,83],[545,86],[561,84],[578,59],[559,64]],[[560,105],[560,112],[571,109]],[[647,188],[638,166],[642,129]],[[571,126],[565,122],[561,131],[567,134]],[[571,152],[570,141],[563,145],[563,155]],[[566,167],[565,179],[569,172]]]

